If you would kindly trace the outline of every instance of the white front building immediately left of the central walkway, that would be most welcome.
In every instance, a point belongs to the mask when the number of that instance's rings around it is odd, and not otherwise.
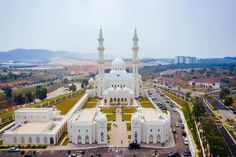
[[[107,143],[107,118],[98,108],[78,111],[67,125],[69,141],[74,144]]]

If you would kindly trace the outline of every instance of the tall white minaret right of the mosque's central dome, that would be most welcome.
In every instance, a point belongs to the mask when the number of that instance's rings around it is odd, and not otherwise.
[[[138,75],[138,64],[139,64],[139,60],[138,60],[138,35],[137,35],[137,30],[136,28],[134,29],[134,37],[133,37],[133,60],[132,60],[132,72],[134,75]]]

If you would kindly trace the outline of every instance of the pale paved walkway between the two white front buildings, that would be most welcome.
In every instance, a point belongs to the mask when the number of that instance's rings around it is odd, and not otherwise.
[[[116,121],[111,125],[110,145],[118,147],[128,146],[128,132],[126,123],[122,121],[121,108],[116,108]]]

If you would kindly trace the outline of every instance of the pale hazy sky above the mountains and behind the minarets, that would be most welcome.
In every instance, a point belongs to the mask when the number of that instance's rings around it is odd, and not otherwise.
[[[236,56],[236,0],[0,0],[0,51],[15,48],[141,57]]]

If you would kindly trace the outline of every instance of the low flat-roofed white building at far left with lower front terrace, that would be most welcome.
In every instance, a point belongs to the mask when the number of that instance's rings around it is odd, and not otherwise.
[[[66,132],[66,119],[53,108],[21,108],[15,111],[15,125],[3,133],[3,143],[56,144]]]

